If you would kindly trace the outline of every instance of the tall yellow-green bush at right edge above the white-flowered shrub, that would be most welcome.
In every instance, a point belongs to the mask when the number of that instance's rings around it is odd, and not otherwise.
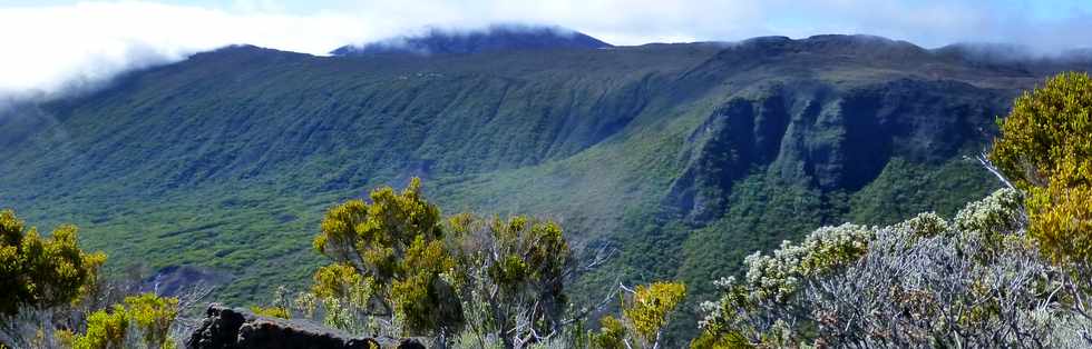
[[[1028,231],[1092,320],[1092,78],[1070,72],[1016,99],[989,159],[1024,191]]]

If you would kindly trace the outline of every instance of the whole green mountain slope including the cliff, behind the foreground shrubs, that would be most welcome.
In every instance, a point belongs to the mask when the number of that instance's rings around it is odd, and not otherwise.
[[[0,206],[75,222],[113,268],[230,273],[246,303],[309,280],[322,211],[425,179],[446,212],[556,218],[622,253],[586,287],[682,278],[819,225],[950,213],[964,159],[1051,71],[871,37],[475,54],[231,47],[0,118]],[[689,326],[689,325],[688,325]]]

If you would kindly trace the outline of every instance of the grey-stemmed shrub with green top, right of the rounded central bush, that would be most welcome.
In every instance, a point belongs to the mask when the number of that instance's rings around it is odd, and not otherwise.
[[[472,319],[467,335],[478,342],[494,337],[506,348],[521,348],[564,331],[565,279],[573,259],[560,226],[525,216],[482,219],[461,213],[447,227],[458,260],[456,288]]]

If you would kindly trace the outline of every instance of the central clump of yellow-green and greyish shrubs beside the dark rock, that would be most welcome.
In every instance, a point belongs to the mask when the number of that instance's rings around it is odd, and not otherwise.
[[[294,297],[279,289],[255,312],[310,318],[354,335],[427,337],[441,347],[656,348],[685,296],[676,282],[618,285],[601,302],[576,305],[566,285],[613,253],[573,251],[558,223],[442,217],[418,179],[401,192],[376,189],[369,199],[326,211],[313,246],[329,265],[315,271],[311,288]],[[585,330],[616,297],[622,320]]]

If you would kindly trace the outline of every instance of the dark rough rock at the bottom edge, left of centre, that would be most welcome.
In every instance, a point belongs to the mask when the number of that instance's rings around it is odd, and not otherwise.
[[[186,347],[191,349],[425,348],[415,339],[403,339],[397,345],[394,341],[387,342],[389,345],[384,346],[373,338],[353,337],[308,320],[263,317],[245,309],[212,303],[201,327],[186,341]]]

